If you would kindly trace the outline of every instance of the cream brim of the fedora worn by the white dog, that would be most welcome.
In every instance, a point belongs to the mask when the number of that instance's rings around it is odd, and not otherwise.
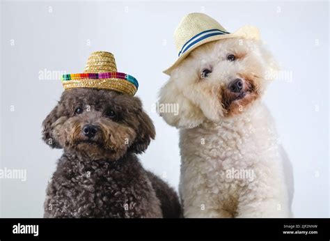
[[[204,40],[201,40],[200,42],[196,43],[193,47],[189,48],[187,52],[184,52],[176,61],[171,65],[170,68],[164,70],[164,74],[171,75],[172,70],[177,67],[184,59],[187,58],[189,53],[196,49],[197,47],[207,43],[212,42],[216,40],[226,39],[226,38],[245,38],[245,39],[260,39],[259,29],[255,26],[242,26],[242,28],[238,29],[234,33],[228,33],[223,35],[217,35],[217,36],[211,36],[210,38],[205,38]]]

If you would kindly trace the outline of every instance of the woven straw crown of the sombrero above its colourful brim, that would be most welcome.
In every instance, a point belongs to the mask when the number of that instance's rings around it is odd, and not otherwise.
[[[117,72],[116,60],[109,52],[97,51],[89,56],[85,73]]]

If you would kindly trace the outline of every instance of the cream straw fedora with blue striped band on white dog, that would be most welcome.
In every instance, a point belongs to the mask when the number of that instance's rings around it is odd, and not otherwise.
[[[196,47],[224,38],[249,38],[258,40],[259,30],[255,26],[242,26],[234,33],[229,33],[212,17],[203,13],[189,13],[180,22],[174,32],[175,47],[179,58],[170,68],[164,70],[166,75],[170,75],[181,61]]]

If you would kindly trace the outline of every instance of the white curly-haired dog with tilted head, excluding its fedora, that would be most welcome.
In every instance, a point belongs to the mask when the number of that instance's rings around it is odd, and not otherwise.
[[[262,42],[228,38],[171,72],[159,102],[179,105],[161,116],[180,128],[184,217],[291,217],[291,164],[260,100],[276,69]]]

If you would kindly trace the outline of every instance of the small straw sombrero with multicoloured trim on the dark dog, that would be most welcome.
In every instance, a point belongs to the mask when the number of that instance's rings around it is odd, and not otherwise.
[[[89,56],[84,73],[63,75],[65,90],[70,88],[98,88],[134,95],[138,81],[131,75],[117,72],[116,61],[109,52],[94,52]]]

